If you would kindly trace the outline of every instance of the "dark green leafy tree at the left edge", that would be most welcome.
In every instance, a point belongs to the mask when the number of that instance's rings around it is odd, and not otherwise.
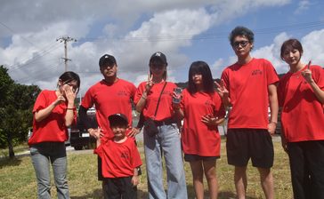
[[[3,96],[0,102],[0,147],[8,147],[9,156],[14,157],[13,146],[26,141],[28,128],[32,125],[32,108],[40,89],[36,85],[15,84],[7,69],[1,66],[0,92]]]

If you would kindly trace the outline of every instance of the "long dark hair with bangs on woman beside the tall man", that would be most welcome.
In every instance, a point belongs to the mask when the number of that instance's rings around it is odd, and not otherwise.
[[[190,94],[193,94],[197,92],[196,84],[194,84],[192,80],[192,76],[195,74],[201,74],[203,79],[203,87],[204,90],[208,93],[215,92],[214,90],[214,80],[212,76],[212,72],[210,71],[210,68],[208,64],[205,61],[198,60],[192,62],[190,68],[189,68],[189,75],[188,75],[188,92]]]

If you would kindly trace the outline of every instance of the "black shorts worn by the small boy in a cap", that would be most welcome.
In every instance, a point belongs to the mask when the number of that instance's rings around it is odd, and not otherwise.
[[[132,184],[132,176],[124,178],[103,179],[103,196],[105,199],[136,199],[137,187]]]

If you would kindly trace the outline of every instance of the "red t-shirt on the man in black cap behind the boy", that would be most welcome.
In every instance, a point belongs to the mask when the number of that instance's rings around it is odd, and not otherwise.
[[[134,84],[118,79],[114,84],[107,84],[104,80],[94,84],[85,92],[81,105],[85,108],[96,109],[96,119],[103,133],[109,133],[111,139],[114,134],[110,131],[108,116],[121,113],[127,116],[129,125],[132,126],[132,100],[136,87]]]

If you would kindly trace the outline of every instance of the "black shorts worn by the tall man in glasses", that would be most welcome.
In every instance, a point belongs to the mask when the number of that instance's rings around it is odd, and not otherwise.
[[[272,167],[274,152],[268,130],[229,129],[226,138],[229,164],[244,167],[251,158],[254,167],[265,169]]]

